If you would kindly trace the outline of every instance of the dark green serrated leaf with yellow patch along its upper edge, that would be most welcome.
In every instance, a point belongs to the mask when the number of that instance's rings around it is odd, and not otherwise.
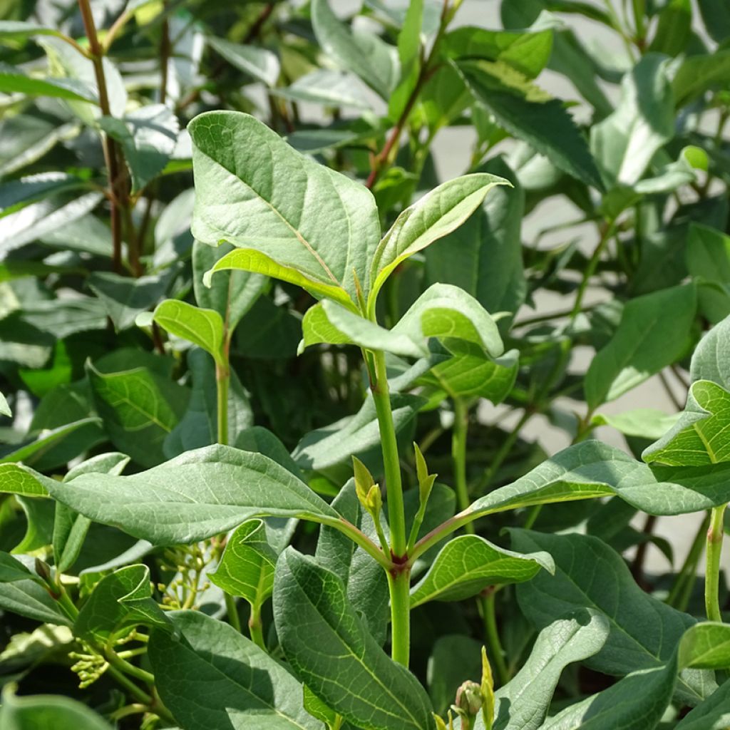
[[[560,101],[550,99],[518,72],[505,74],[498,64],[461,61],[458,67],[477,103],[491,112],[500,126],[528,142],[563,172],[603,189],[588,145]]]

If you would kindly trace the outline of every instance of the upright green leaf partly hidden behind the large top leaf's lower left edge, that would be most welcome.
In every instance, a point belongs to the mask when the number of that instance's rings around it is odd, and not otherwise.
[[[260,274],[234,271],[218,274],[212,278],[210,288],[205,286],[204,274],[231,250],[233,247],[228,244],[214,248],[199,241],[193,243],[193,289],[196,304],[218,312],[226,322],[228,332],[234,331],[241,318],[253,307],[268,281]]]

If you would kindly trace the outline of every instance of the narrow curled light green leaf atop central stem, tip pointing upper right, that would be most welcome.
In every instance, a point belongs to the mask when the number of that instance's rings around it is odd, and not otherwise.
[[[485,172],[462,175],[434,188],[401,212],[372,255],[370,301],[402,261],[461,226],[495,185],[511,184]]]

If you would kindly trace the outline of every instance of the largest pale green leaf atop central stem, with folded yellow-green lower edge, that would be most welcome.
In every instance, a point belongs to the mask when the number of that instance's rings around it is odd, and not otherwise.
[[[380,237],[372,194],[295,152],[249,115],[207,112],[189,129],[193,236],[238,249],[212,271],[267,274],[354,307],[355,276],[366,290]]]

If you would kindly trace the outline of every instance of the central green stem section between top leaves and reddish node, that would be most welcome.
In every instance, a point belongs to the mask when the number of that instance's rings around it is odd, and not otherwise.
[[[403,557],[406,551],[406,520],[403,511],[403,485],[401,465],[398,458],[398,442],[393,425],[391,396],[388,392],[388,373],[385,370],[385,353],[374,350],[375,382],[372,397],[380,427],[380,447],[383,450],[385,467],[385,488],[388,495],[388,526],[391,529],[391,550],[396,557]]]

